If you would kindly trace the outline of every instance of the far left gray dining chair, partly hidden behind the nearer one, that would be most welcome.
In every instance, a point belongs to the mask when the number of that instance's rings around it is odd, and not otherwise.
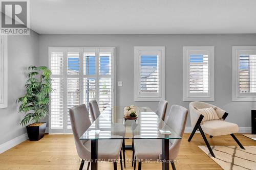
[[[92,122],[94,122],[100,116],[100,110],[99,110],[97,101],[96,100],[90,101],[89,107],[90,107]],[[124,129],[123,125],[121,125],[120,128],[118,128],[118,129],[120,130],[120,132],[117,133],[117,135],[124,136],[125,129]],[[125,141],[124,141],[124,139],[122,141],[122,151],[123,151],[123,160],[124,160],[123,166],[125,167]]]

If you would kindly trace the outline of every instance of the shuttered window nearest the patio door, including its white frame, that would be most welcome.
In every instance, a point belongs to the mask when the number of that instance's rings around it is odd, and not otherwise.
[[[159,101],[165,96],[164,46],[134,47],[134,100]]]

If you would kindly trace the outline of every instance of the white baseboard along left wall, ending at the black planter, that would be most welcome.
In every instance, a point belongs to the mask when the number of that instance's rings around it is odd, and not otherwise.
[[[3,144],[0,144],[0,154],[3,152],[15,147],[17,144],[24,142],[28,139],[28,134],[25,133],[23,135],[20,135],[18,137],[15,137],[14,139],[11,139]]]

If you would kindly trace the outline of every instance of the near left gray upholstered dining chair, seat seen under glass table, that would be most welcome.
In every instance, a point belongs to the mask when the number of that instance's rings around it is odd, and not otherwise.
[[[79,170],[82,170],[84,161],[88,160],[87,169],[90,166],[91,159],[91,140],[80,140],[80,136],[91,126],[86,105],[72,107],[69,110],[71,127],[74,134],[75,145],[78,156],[82,159]],[[122,139],[98,140],[98,159],[113,160],[114,170],[117,169],[118,156],[120,156],[120,165],[122,169],[121,155]]]

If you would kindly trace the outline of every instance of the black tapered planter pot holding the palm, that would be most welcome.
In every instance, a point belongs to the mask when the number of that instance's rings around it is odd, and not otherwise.
[[[27,133],[30,141],[40,140],[46,132],[46,122],[40,126],[27,126]]]

